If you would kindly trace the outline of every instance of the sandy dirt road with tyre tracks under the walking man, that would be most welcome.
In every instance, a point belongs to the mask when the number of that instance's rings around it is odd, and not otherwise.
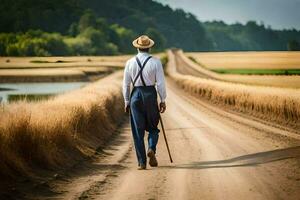
[[[158,168],[138,171],[129,124],[47,187],[55,199],[299,199],[300,134],[211,106],[168,80]],[[40,190],[42,191],[42,190]]]

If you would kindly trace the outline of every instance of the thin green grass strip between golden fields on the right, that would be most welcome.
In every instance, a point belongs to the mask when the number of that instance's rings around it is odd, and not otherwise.
[[[242,75],[300,75],[300,69],[212,69],[220,74]]]

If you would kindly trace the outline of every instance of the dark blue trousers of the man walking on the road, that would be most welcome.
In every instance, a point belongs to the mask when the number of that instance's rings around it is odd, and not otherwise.
[[[130,98],[131,130],[139,165],[146,164],[144,144],[145,131],[148,135],[148,149],[156,152],[159,129],[157,92],[154,86],[134,87]]]

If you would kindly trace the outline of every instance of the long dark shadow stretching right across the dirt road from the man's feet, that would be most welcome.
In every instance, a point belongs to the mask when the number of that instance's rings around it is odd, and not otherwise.
[[[170,169],[209,169],[256,166],[291,158],[300,158],[300,146],[242,155],[225,160],[191,162],[188,164],[160,166]],[[175,161],[176,162],[176,161]]]

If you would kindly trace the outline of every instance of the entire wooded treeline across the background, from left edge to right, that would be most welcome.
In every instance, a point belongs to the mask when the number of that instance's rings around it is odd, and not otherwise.
[[[132,53],[148,34],[155,50],[299,50],[300,32],[263,24],[201,23],[152,0],[0,0],[0,55]]]

